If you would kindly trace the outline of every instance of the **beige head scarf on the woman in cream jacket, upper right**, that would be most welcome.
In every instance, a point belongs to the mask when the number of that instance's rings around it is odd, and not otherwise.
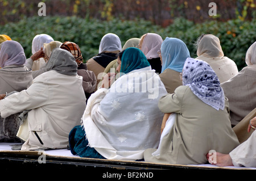
[[[223,57],[224,53],[220,45],[220,39],[214,35],[204,35],[199,41],[197,56]]]

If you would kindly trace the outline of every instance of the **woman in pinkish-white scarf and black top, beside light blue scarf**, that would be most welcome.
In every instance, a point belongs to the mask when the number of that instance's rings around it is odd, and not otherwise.
[[[158,51],[161,49],[163,39],[156,33],[146,33],[141,37],[138,48],[142,50],[155,73],[160,74],[162,65]]]

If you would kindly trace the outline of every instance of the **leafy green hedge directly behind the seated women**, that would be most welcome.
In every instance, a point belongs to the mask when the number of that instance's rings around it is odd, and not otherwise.
[[[35,16],[24,18],[18,23],[8,23],[0,27],[0,34],[7,34],[13,40],[22,44],[27,57],[31,56],[31,44],[35,35],[47,33],[54,40],[61,42],[73,41],[82,51],[84,60],[98,53],[98,46],[102,36],[112,32],[117,34],[122,45],[132,37],[141,37],[144,33],[158,33],[165,39],[177,37],[183,40],[191,52],[191,57],[196,57],[195,41],[202,33],[212,33],[220,38],[225,56],[234,60],[241,70],[245,66],[246,50],[256,41],[256,20],[242,22],[229,20],[228,22],[210,21],[195,24],[186,19],[175,19],[174,23],[166,28],[156,26],[142,19],[123,21],[101,21],[98,19],[85,20],[75,16]]]

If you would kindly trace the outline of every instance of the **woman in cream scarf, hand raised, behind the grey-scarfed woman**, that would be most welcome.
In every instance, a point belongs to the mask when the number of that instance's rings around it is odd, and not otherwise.
[[[49,56],[52,53],[52,50],[55,48],[60,48],[62,43],[60,41],[51,41],[50,43],[44,43],[44,49],[40,49],[38,52],[32,54],[30,57],[33,61],[38,60],[41,57],[44,57],[44,60],[47,62],[49,60]],[[29,65],[28,65],[29,64]],[[27,66],[32,68],[32,64],[27,62]],[[38,75],[46,72],[46,64],[42,64],[38,70],[32,71],[33,78],[38,77]]]

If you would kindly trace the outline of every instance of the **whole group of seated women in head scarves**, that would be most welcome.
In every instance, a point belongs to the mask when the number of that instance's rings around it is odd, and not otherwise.
[[[122,47],[108,33],[87,61],[76,43],[46,34],[34,37],[30,58],[5,38],[0,141],[21,142],[21,150],[68,146],[88,158],[207,163],[210,150],[229,154],[241,146],[234,128],[255,108],[255,52],[253,43],[238,71],[208,34],[191,58],[175,37],[146,33]]]

